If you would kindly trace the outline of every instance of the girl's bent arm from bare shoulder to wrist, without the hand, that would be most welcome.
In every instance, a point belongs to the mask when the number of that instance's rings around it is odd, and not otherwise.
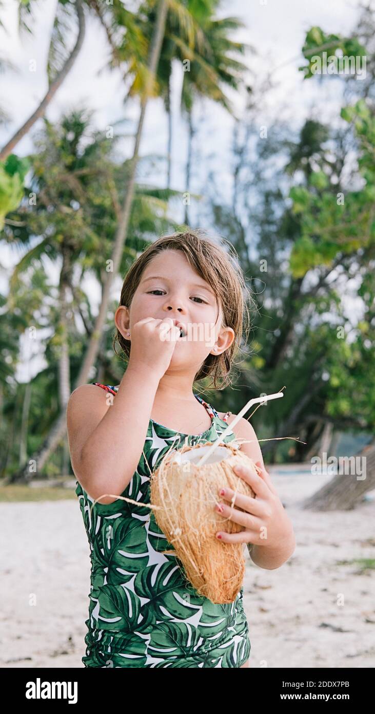
[[[120,496],[138,466],[159,380],[153,371],[128,369],[116,396],[83,384],[66,412],[71,465],[81,486],[96,500]],[[99,503],[113,503],[101,498]]]

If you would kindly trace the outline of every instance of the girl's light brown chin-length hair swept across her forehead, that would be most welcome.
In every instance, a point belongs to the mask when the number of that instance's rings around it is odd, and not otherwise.
[[[223,249],[225,247],[227,247],[227,252]],[[244,341],[245,344],[247,343],[250,329],[250,312],[247,302],[252,303],[250,292],[237,262],[237,253],[229,241],[221,239],[220,246],[207,238],[206,231],[202,228],[158,238],[138,256],[126,273],[119,306],[130,307],[145,267],[159,253],[170,250],[184,253],[190,266],[209,283],[215,293],[218,306],[222,307],[223,324],[231,327],[235,333],[232,345],[220,355],[208,354],[195,375],[195,381],[210,377],[215,388],[223,389],[232,381],[230,371],[234,364],[235,354],[242,348],[244,333]],[[219,308],[217,308],[217,315],[218,310]],[[114,350],[116,340],[125,356],[129,358],[130,342],[123,338],[117,328],[113,340]],[[115,353],[118,354],[116,350]]]

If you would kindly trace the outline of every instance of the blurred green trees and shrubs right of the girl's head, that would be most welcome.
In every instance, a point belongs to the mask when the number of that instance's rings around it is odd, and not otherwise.
[[[260,439],[307,442],[261,442],[271,461],[303,460],[328,419],[341,430],[375,427],[374,108],[360,99],[341,117],[339,129],[309,119],[295,138],[289,127],[282,134],[281,125],[272,126],[272,144],[255,144],[251,131],[239,128],[255,155],[238,151],[242,213],[215,201],[217,229],[230,235],[259,306],[237,386],[219,403],[236,413],[251,396],[285,385],[284,398],[257,408],[251,422]],[[345,298],[357,309],[361,302],[358,317]]]

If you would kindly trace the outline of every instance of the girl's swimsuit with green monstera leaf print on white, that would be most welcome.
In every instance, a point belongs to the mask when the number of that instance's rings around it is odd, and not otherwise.
[[[115,395],[117,387],[93,382]],[[185,443],[215,441],[225,419],[195,394],[212,423],[187,435],[150,419],[137,470],[121,496],[150,503],[150,471],[165,453]],[[234,433],[225,437],[232,441]],[[147,463],[146,463],[146,461]],[[198,595],[180,560],[158,528],[150,508],[127,501],[96,503],[76,481],[88,536],[91,592],[85,667],[237,667],[250,655],[243,587],[233,603],[215,604]]]

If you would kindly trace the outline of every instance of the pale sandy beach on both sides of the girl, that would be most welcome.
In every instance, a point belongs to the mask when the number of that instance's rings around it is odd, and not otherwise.
[[[292,471],[269,467],[294,554],[276,570],[247,560],[250,668],[373,668],[375,571],[363,561],[374,559],[375,501],[303,511],[332,476]],[[1,667],[83,667],[90,558],[78,500],[0,503],[0,514]]]

